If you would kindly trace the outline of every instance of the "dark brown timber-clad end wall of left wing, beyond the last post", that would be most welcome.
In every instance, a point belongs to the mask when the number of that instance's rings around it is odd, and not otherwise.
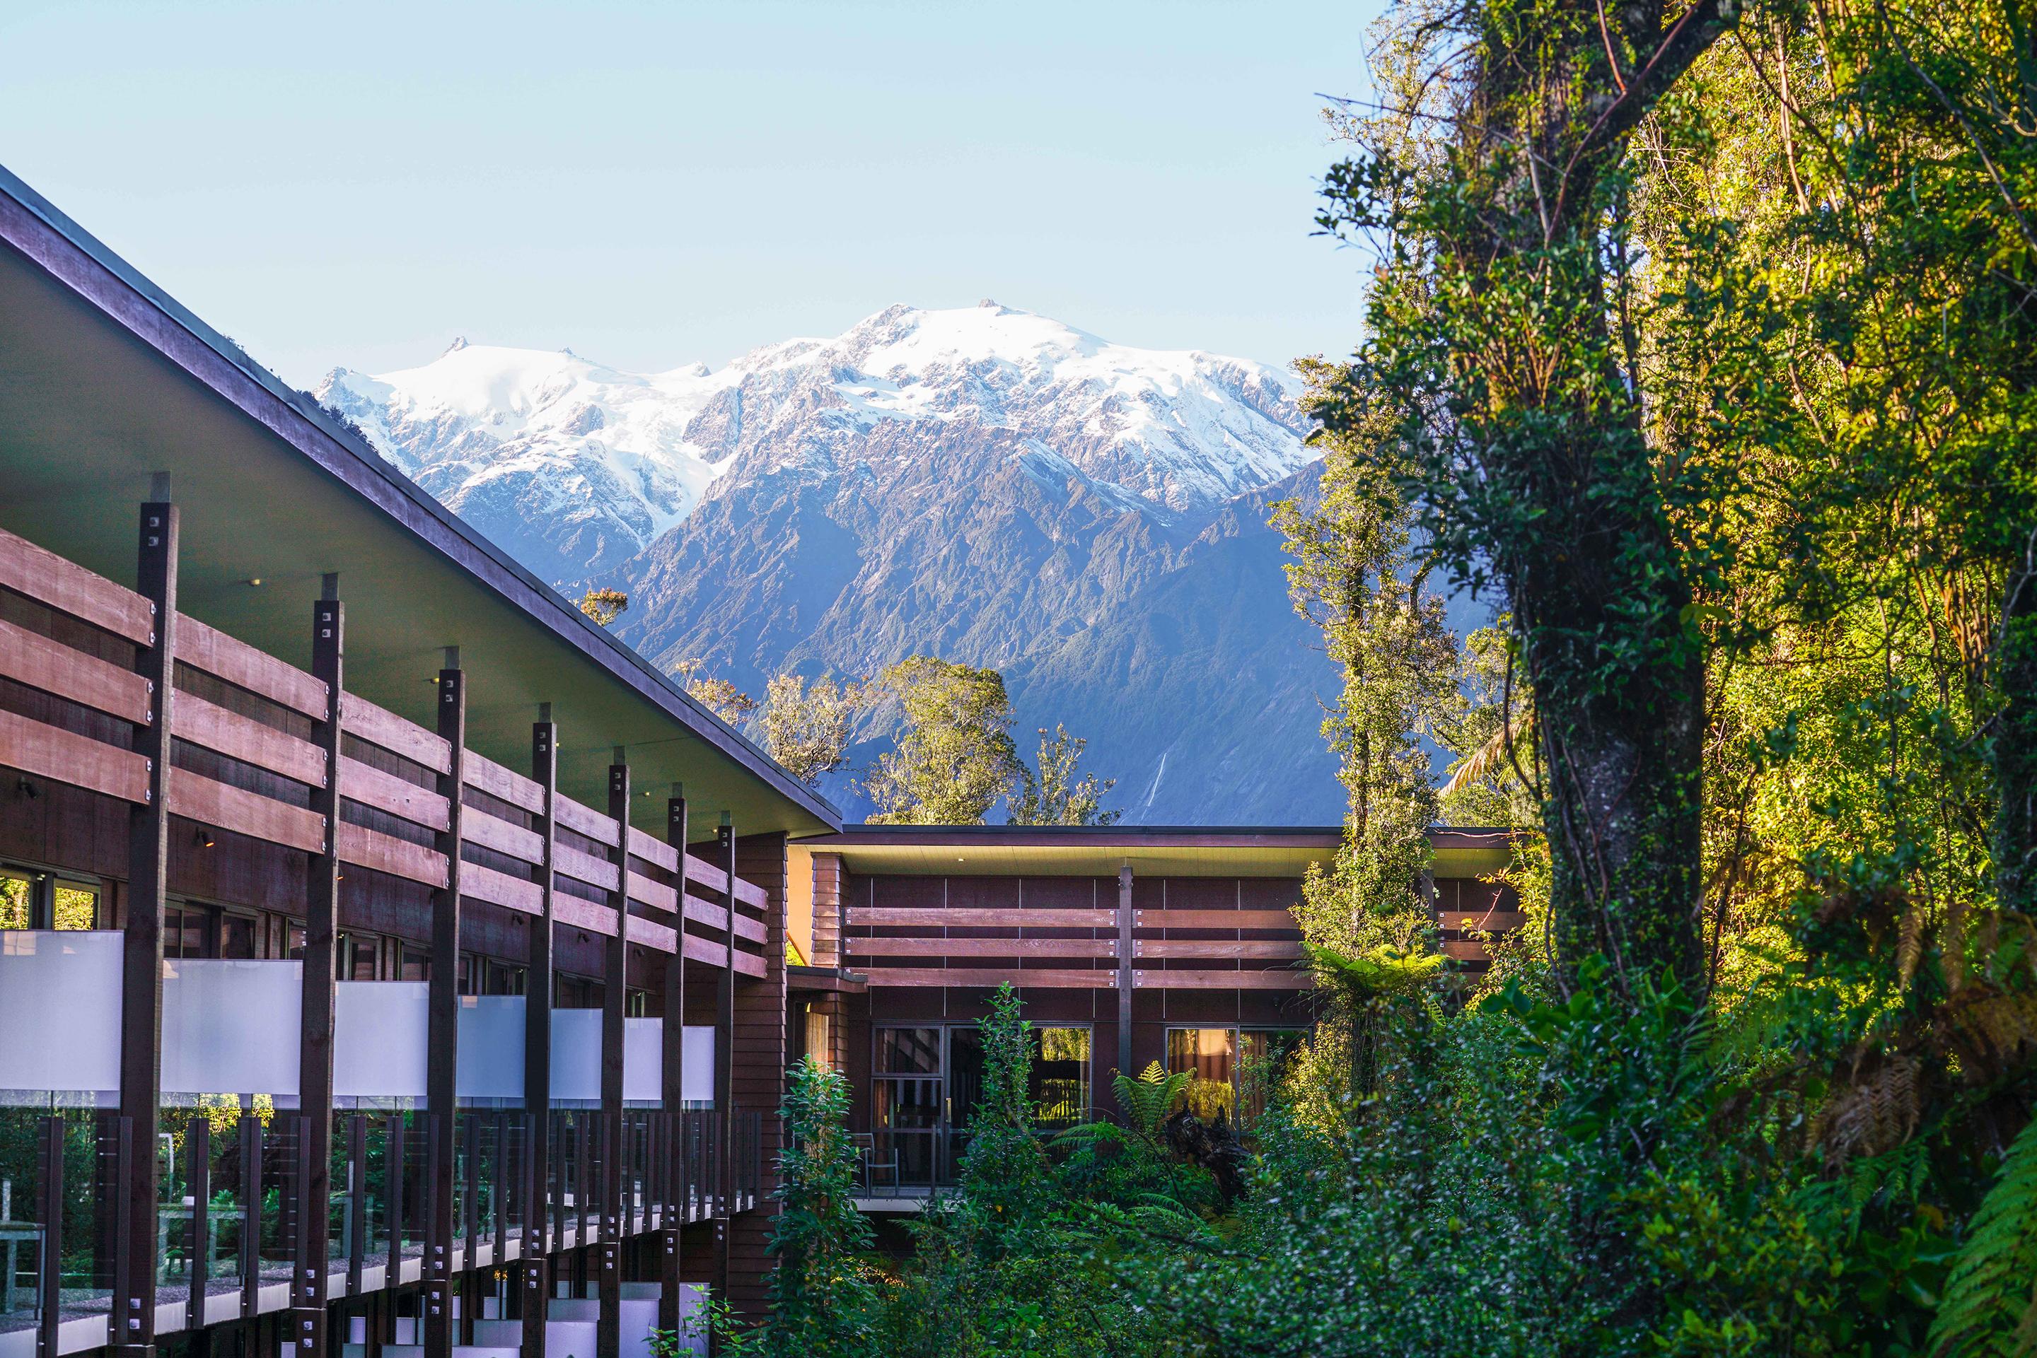
[[[735,841],[735,871],[764,888],[766,939],[784,939],[786,847],[784,835],[741,835]],[[778,1097],[784,1091],[784,945],[764,949],[764,977],[735,981],[735,1108],[762,1112],[764,1169],[758,1207],[729,1222],[729,1303],[748,1317],[760,1317],[766,1279],[772,1268],[770,1220],[778,1203]]]

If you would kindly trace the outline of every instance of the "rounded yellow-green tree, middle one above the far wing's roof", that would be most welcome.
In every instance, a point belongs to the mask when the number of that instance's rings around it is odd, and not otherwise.
[[[864,790],[872,825],[982,825],[1018,780],[1004,676],[913,656],[878,678],[902,709],[894,749],[878,755]]]

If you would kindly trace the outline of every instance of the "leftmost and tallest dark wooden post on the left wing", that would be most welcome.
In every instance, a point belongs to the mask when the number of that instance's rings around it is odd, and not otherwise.
[[[177,654],[177,507],[169,474],[157,472],[141,507],[134,588],[155,613],[155,635],[136,647],[134,668],[149,684],[155,719],[134,729],[134,753],[147,761],[143,802],[128,812],[126,928],[120,955],[120,1118],[145,1148],[114,1203],[114,1289],[106,1317],[118,1358],[155,1352],[155,1134],[163,1083],[163,890],[169,869],[169,731]]]

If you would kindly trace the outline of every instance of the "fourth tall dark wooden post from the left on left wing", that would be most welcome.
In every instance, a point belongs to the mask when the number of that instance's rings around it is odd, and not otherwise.
[[[546,1252],[552,1222],[552,800],[558,796],[558,727],[552,704],[538,706],[530,729],[530,776],[544,790],[544,812],[536,831],[544,839],[538,863],[542,916],[530,922],[530,967],[524,973],[524,1118],[530,1124],[524,1154],[530,1199],[524,1203],[524,1352],[544,1354],[544,1321],[550,1309]]]

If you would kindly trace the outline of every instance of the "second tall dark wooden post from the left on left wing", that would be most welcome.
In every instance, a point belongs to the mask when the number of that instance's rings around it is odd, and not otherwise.
[[[326,757],[326,782],[312,788],[312,810],[324,818],[320,851],[306,865],[304,900],[304,1026],[297,1040],[297,1112],[306,1138],[308,1181],[297,1213],[297,1277],[289,1289],[293,1348],[299,1358],[326,1358],[326,1203],[332,1165],[332,1004],[334,939],[340,918],[340,702],[346,680],[346,609],[340,578],[328,574],[312,605],[312,678],[326,686],[326,717],[312,741]]]

